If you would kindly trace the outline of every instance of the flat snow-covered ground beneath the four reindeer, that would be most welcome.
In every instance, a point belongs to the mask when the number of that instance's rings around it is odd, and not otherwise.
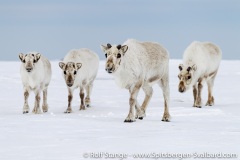
[[[240,158],[240,61],[222,61],[214,87],[215,106],[201,109],[192,107],[192,91],[181,94],[177,90],[180,62],[170,61],[171,122],[161,121],[163,96],[155,85],[147,117],[135,123],[123,123],[129,93],[115,85],[104,70],[104,61],[94,83],[93,107],[79,111],[79,90],[75,90],[71,114],[63,113],[67,89],[58,62],[52,61],[50,108],[39,115],[22,114],[20,62],[0,62],[0,160],[80,160],[86,159],[84,153],[87,159],[94,159],[90,153],[107,158],[100,152],[129,154],[128,159],[141,153],[205,152],[233,153]],[[202,97],[205,104],[206,85]],[[143,98],[141,91],[138,99]],[[33,93],[29,100],[32,110]]]

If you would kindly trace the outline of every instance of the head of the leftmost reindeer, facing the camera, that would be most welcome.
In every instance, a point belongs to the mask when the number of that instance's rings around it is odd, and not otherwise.
[[[41,58],[40,53],[37,53],[37,54],[28,53],[25,55],[23,53],[19,54],[19,59],[22,61],[26,71],[29,73],[33,71],[35,64],[39,61],[40,58]]]

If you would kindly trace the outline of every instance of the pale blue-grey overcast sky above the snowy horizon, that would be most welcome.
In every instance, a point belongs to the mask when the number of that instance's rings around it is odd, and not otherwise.
[[[240,59],[239,0],[0,1],[0,60],[37,51],[58,60],[71,49],[128,38],[159,42],[181,59],[194,40],[214,42],[224,59]]]

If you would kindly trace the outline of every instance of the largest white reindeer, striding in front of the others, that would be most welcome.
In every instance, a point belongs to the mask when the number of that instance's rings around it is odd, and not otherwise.
[[[152,97],[152,85],[155,83],[163,90],[165,109],[162,120],[169,121],[168,51],[158,43],[139,42],[133,39],[127,40],[123,45],[107,44],[101,48],[107,57],[106,71],[114,76],[119,87],[130,92],[130,111],[125,122],[133,122],[135,118],[143,119]],[[137,102],[140,88],[146,94],[141,108]]]

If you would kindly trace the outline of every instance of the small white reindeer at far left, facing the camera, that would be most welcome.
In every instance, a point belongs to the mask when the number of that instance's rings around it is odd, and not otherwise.
[[[26,55],[20,53],[19,58],[22,61],[20,73],[24,88],[23,113],[29,112],[28,97],[30,91],[35,93],[35,106],[32,112],[35,114],[41,113],[41,91],[43,91],[42,110],[47,112],[47,89],[52,75],[50,62],[37,52],[29,52]]]

